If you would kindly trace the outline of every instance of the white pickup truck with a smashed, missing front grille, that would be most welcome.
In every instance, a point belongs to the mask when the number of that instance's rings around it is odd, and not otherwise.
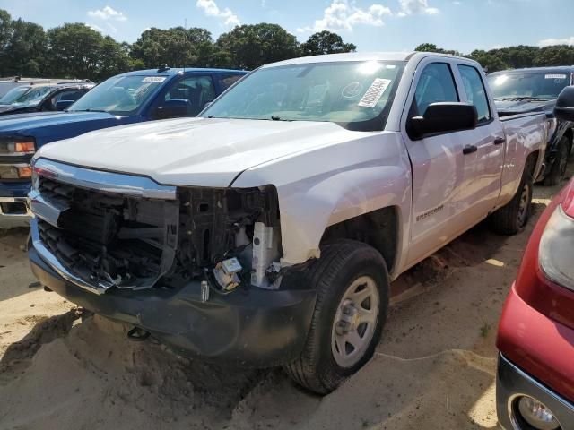
[[[500,119],[465,58],[265,65],[201,117],[39,150],[32,270],[132,338],[326,393],[373,355],[391,280],[487,217],[524,228],[546,126]]]

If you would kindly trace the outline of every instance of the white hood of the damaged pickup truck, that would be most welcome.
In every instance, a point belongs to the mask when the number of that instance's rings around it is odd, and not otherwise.
[[[86,133],[46,145],[36,158],[149,176],[163,185],[225,187],[248,168],[355,133],[364,135],[333,123],[180,118]]]

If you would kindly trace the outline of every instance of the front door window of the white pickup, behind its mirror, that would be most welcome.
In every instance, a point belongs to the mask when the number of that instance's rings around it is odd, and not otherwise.
[[[413,114],[424,115],[431,103],[459,101],[457,85],[446,63],[431,63],[421,73],[414,91]]]

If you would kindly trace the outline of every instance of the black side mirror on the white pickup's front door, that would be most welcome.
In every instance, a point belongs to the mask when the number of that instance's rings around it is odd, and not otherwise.
[[[432,103],[423,116],[413,116],[407,132],[413,141],[429,134],[472,130],[478,123],[476,107],[468,103]]]

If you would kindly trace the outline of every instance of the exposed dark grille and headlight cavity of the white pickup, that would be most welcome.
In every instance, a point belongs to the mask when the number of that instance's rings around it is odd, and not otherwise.
[[[168,201],[42,177],[39,193],[65,208],[57,225],[39,219],[42,243],[91,285],[170,288],[202,280],[223,294],[240,285],[278,287],[281,238],[272,186],[179,188]]]

